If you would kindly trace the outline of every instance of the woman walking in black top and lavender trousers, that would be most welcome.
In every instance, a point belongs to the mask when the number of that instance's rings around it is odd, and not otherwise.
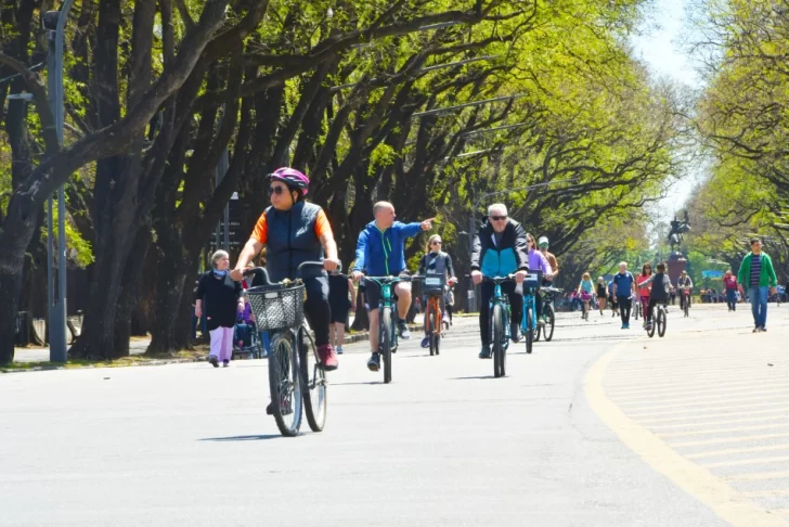
[[[230,365],[233,354],[233,330],[237,313],[244,310],[241,297],[242,284],[230,278],[230,256],[224,250],[217,250],[211,256],[212,269],[201,277],[195,295],[195,316],[203,314],[205,305],[206,326],[211,335],[211,348],[208,362],[219,368]]]

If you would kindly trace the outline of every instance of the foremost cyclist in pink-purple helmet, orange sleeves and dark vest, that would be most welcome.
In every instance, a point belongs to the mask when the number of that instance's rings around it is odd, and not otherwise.
[[[271,206],[258,219],[251,237],[238,256],[231,278],[241,281],[247,264],[266,246],[266,269],[272,282],[301,278],[307,292],[305,312],[315,332],[315,346],[326,371],[337,369],[337,356],[328,342],[331,321],[328,277],[338,268],[337,244],[326,214],[307,203],[310,180],[293,168],[279,168],[269,175]],[[323,269],[307,268],[305,261],[323,261]]]

